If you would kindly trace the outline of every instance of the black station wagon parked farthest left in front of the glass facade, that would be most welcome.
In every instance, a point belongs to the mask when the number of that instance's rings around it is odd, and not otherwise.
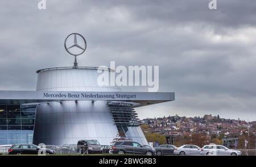
[[[8,150],[9,155],[38,155],[38,151],[43,150],[46,154],[55,154],[52,149],[42,149],[34,144],[14,144]]]

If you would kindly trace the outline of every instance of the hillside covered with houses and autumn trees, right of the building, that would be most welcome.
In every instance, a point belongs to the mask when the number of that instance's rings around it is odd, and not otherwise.
[[[220,118],[219,115],[209,114],[193,118],[179,115],[147,118],[141,120],[141,123],[142,130],[147,138],[150,138],[150,134],[158,134],[167,138],[169,136],[172,144],[176,145],[188,143],[225,145],[225,142],[230,140],[230,147],[244,148],[244,143],[249,140],[250,147],[255,147],[256,121],[224,119]],[[164,140],[162,139],[160,143],[164,143]]]

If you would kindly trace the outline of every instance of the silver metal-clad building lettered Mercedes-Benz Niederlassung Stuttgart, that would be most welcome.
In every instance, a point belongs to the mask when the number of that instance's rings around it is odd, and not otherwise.
[[[98,69],[42,69],[35,91],[0,91],[0,145],[77,144],[82,139],[109,145],[117,136],[148,144],[135,109],[174,101],[175,94],[100,86]]]

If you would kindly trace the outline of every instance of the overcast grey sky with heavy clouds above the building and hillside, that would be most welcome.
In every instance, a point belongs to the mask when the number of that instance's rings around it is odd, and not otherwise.
[[[159,65],[159,91],[176,101],[137,108],[141,119],[256,120],[255,0],[217,0],[216,10],[209,0],[38,2],[0,1],[0,90],[35,90],[36,70],[72,66],[63,43],[78,32],[80,66]]]

